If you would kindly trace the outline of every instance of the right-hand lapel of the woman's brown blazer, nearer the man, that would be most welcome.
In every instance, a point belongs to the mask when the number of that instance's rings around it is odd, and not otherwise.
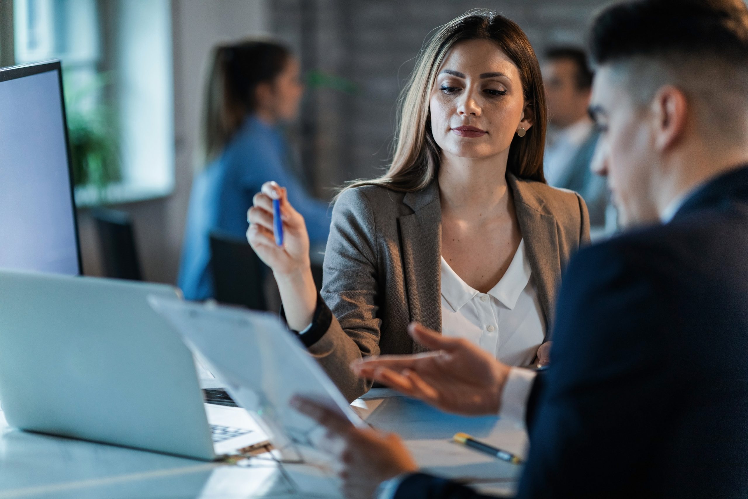
[[[545,340],[550,340],[553,304],[556,303],[557,286],[561,278],[556,218],[543,209],[545,202],[528,183],[512,174],[506,174],[506,180],[509,189],[512,189],[527,259],[530,260],[533,281],[548,325]]]

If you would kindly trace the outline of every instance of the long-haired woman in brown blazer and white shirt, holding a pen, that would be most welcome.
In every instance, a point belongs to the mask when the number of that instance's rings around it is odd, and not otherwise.
[[[273,269],[289,327],[301,331],[349,399],[371,387],[352,373],[352,361],[423,351],[408,336],[413,321],[442,331],[443,317],[469,326],[481,313],[503,313],[506,327],[520,331],[512,334],[534,334],[532,359],[550,340],[562,270],[589,240],[582,198],[545,184],[542,78],[515,22],[485,12],[444,25],[421,53],[401,102],[389,170],[337,198],[321,295],[304,219],[285,189],[266,184],[248,212],[248,240]],[[280,247],[272,199],[281,200]],[[520,289],[503,286],[510,278],[519,278]],[[526,306],[517,317],[520,291]],[[502,302],[502,293],[514,296]],[[462,306],[473,299],[483,304]],[[488,331],[501,334],[498,328],[486,325],[476,341],[490,338]]]

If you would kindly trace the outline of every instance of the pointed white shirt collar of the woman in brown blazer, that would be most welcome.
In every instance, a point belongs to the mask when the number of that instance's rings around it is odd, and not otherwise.
[[[496,286],[492,287],[487,294],[512,310],[522,291],[527,287],[527,283],[530,282],[531,274],[532,269],[530,268],[530,262],[525,257],[524,239],[522,239],[515,256],[512,258],[512,263],[509,263],[509,268],[506,269]],[[479,294],[465,281],[462,281],[462,278],[453,271],[447,260],[441,257],[441,296],[444,296],[453,310],[460,310],[468,301]]]

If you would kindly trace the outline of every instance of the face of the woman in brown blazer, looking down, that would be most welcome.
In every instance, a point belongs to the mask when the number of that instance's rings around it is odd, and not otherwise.
[[[439,68],[429,107],[442,153],[461,158],[508,153],[518,129],[532,126],[519,71],[490,40],[453,46]]]

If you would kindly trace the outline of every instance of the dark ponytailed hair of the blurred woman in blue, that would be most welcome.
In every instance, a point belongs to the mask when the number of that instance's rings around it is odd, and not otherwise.
[[[242,40],[213,49],[203,105],[201,166],[221,154],[257,109],[257,85],[274,81],[290,56],[286,46],[269,40]]]

